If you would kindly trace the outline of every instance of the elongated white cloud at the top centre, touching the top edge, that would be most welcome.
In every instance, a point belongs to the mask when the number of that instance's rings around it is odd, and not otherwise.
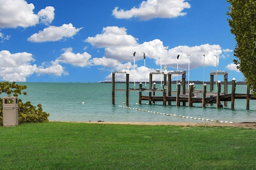
[[[190,8],[188,2],[184,0],[147,0],[142,1],[138,8],[130,10],[119,10],[116,7],[112,15],[120,19],[138,18],[139,20],[150,20],[152,18],[175,18],[186,15],[182,12],[184,8]]]

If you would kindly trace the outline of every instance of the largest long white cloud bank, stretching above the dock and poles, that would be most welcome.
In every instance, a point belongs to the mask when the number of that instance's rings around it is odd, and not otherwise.
[[[111,38],[110,35],[112,36]],[[184,45],[169,49],[168,46],[164,46],[160,39],[154,39],[139,44],[132,35],[129,35],[128,38],[124,38],[126,35],[126,28],[124,27],[107,27],[107,29],[103,29],[102,34],[87,38],[85,41],[91,43],[92,46],[105,48],[104,58],[92,59],[91,63],[96,65],[102,64],[102,66],[114,66],[122,62],[133,62],[134,51],[137,52],[135,60],[138,61],[143,59],[143,53],[141,53],[141,51],[145,51],[147,58],[154,59],[157,65],[160,65],[160,61],[162,60],[162,64],[166,64],[169,68],[176,68],[176,58],[177,55],[180,55],[179,68],[186,69],[189,62],[189,53],[191,54],[190,68],[203,66],[203,55],[205,55],[205,66],[216,66],[216,59],[218,64],[219,57],[216,58],[215,55],[220,56],[222,53],[220,45],[203,44],[194,47]],[[117,42],[119,39],[124,39],[124,42],[117,43],[118,45],[116,45],[115,39],[117,39]],[[110,59],[114,59],[116,62]]]

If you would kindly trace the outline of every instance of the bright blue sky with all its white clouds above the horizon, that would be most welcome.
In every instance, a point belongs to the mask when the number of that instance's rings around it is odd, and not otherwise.
[[[210,81],[216,70],[244,81],[233,63],[229,6],[226,0],[0,0],[0,81],[104,82],[129,66],[130,81],[144,82],[162,65],[186,69],[186,80],[189,70],[190,81]]]

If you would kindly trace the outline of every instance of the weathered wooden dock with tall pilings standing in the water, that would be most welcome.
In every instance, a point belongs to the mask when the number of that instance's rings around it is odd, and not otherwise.
[[[223,107],[221,102],[224,102],[224,106],[227,106],[227,102],[231,102],[231,109],[234,109],[235,99],[245,99],[246,100],[246,109],[249,109],[250,100],[256,100],[256,98],[250,94],[250,89],[247,87],[246,94],[237,94],[236,91],[236,80],[232,80],[232,93],[227,94],[227,72],[221,72],[220,75],[224,75],[224,93],[221,91],[221,82],[217,82],[217,92],[213,92],[213,76],[216,73],[211,73],[210,81],[210,92],[206,92],[206,84],[203,86],[203,90],[195,90],[193,84],[189,84],[189,88],[185,88],[185,78],[186,71],[178,72],[182,74],[182,84],[178,83],[177,89],[175,92],[171,90],[171,81],[168,81],[168,88],[166,85],[166,77],[168,80],[171,80],[172,74],[177,74],[177,72],[169,72],[164,74],[164,83],[163,89],[157,90],[156,84],[153,84],[152,88],[152,74],[160,74],[159,72],[150,72],[150,81],[149,89],[142,88],[142,83],[140,83],[139,89],[129,88],[129,74],[126,74],[126,89],[115,89],[115,79],[114,76],[117,72],[112,73],[112,104],[115,104],[115,91],[126,91],[126,105],[129,105],[129,92],[139,92],[139,104],[142,100],[147,100],[148,104],[154,104],[155,102],[163,102],[163,105],[175,105],[175,106],[186,106],[186,103],[189,107],[193,106],[193,103],[202,103],[202,107],[205,107],[208,104],[216,104],[216,107]],[[118,72],[119,73],[119,72]],[[217,73],[218,74],[218,73]],[[182,87],[182,89],[181,89]],[[142,96],[142,92],[148,92],[148,96]],[[156,96],[156,92],[161,92],[162,96]],[[172,96],[175,94],[175,96]],[[172,104],[175,103],[175,104]]]

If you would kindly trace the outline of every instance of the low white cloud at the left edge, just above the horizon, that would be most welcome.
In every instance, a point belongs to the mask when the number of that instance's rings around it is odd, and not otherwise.
[[[31,53],[14,53],[9,51],[0,51],[0,80],[25,82],[26,78],[34,73],[53,74],[61,76],[66,74],[64,68],[57,62],[51,62],[49,66],[44,67],[32,64],[35,60]]]

